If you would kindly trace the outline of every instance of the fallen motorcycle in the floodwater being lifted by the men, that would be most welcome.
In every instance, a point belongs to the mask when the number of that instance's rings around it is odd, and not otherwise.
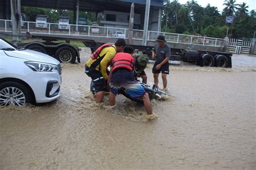
[[[139,82],[140,86],[142,86],[144,88],[144,90],[149,94],[150,101],[153,100],[153,99],[154,100],[161,100],[166,95],[166,93],[164,91],[159,90],[159,88],[155,84],[152,87],[150,87],[146,83],[143,83],[138,79],[136,79],[136,80]],[[91,81],[90,90],[91,90],[92,94],[96,93],[95,83],[93,83],[93,81]],[[118,95],[119,94],[124,95],[126,98],[129,98],[130,100],[132,100],[134,102],[143,103],[142,98],[132,98],[127,93],[125,88],[123,88],[123,87],[118,88]]]

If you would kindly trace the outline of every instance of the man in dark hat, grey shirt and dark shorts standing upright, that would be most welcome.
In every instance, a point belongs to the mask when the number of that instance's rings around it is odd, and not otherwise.
[[[154,84],[158,86],[158,76],[161,73],[163,80],[163,90],[167,90],[167,74],[169,74],[169,58],[171,56],[170,47],[165,44],[165,37],[159,35],[157,37],[157,44],[153,49],[153,58],[156,59],[154,66],[152,68],[152,73],[154,74]]]

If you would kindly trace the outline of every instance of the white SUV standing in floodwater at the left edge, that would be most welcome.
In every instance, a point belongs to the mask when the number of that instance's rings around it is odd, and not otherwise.
[[[56,100],[61,74],[60,63],[52,56],[16,48],[0,38],[0,106]]]

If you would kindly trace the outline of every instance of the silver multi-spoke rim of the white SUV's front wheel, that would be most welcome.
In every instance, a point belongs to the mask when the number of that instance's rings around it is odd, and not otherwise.
[[[0,91],[0,105],[24,105],[26,98],[24,93],[16,87],[6,87]]]

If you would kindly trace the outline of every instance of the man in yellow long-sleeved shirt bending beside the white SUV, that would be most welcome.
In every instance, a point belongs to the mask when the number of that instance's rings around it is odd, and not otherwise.
[[[85,74],[91,77],[95,83],[95,98],[96,103],[100,103],[104,98],[104,91],[106,90],[107,67],[116,53],[122,52],[123,47],[126,46],[124,39],[118,39],[114,45],[104,44],[100,46],[86,62]]]

